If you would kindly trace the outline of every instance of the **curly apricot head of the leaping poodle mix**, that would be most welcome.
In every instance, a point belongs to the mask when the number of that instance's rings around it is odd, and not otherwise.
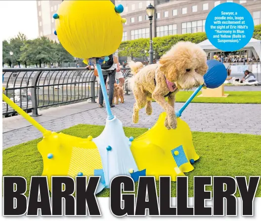
[[[207,55],[196,44],[179,42],[160,59],[160,71],[179,89],[191,89],[204,83],[208,70]]]

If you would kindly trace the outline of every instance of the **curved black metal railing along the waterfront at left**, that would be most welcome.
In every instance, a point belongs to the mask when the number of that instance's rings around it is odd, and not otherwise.
[[[122,68],[125,78],[130,68]],[[26,112],[89,100],[95,103],[98,82],[93,70],[86,68],[3,68],[4,94]],[[128,83],[124,85],[126,95]],[[4,117],[17,112],[2,102]]]

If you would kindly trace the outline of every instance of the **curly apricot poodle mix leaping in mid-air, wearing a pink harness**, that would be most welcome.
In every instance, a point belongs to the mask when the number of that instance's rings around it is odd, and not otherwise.
[[[133,123],[138,122],[138,112],[146,109],[152,113],[151,101],[154,99],[166,112],[165,126],[177,126],[174,110],[175,94],[180,89],[192,89],[204,83],[207,72],[207,55],[191,42],[179,42],[163,55],[156,64],[143,67],[141,62],[129,62],[132,77],[132,92],[136,103],[133,107]],[[168,102],[165,100],[168,97]]]

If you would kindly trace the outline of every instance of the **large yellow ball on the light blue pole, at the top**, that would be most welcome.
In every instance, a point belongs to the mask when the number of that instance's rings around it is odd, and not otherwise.
[[[110,0],[65,0],[55,20],[62,46],[74,57],[90,58],[113,54],[123,35],[121,16]]]

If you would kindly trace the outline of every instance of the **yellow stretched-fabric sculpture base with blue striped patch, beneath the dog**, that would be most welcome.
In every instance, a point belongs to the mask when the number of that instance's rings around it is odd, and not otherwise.
[[[172,181],[176,181],[176,176],[184,176],[184,172],[194,169],[190,160],[196,161],[199,156],[195,152],[188,124],[177,118],[177,128],[168,130],[164,125],[165,118],[166,112],[161,113],[150,130],[134,139],[131,152],[138,169],[146,169],[147,176],[155,176],[156,180],[159,180],[159,176],[171,176]],[[172,153],[176,148],[179,150],[175,152],[176,157],[182,158],[177,161]],[[185,153],[183,156],[182,149]],[[180,160],[182,165],[178,166]]]

